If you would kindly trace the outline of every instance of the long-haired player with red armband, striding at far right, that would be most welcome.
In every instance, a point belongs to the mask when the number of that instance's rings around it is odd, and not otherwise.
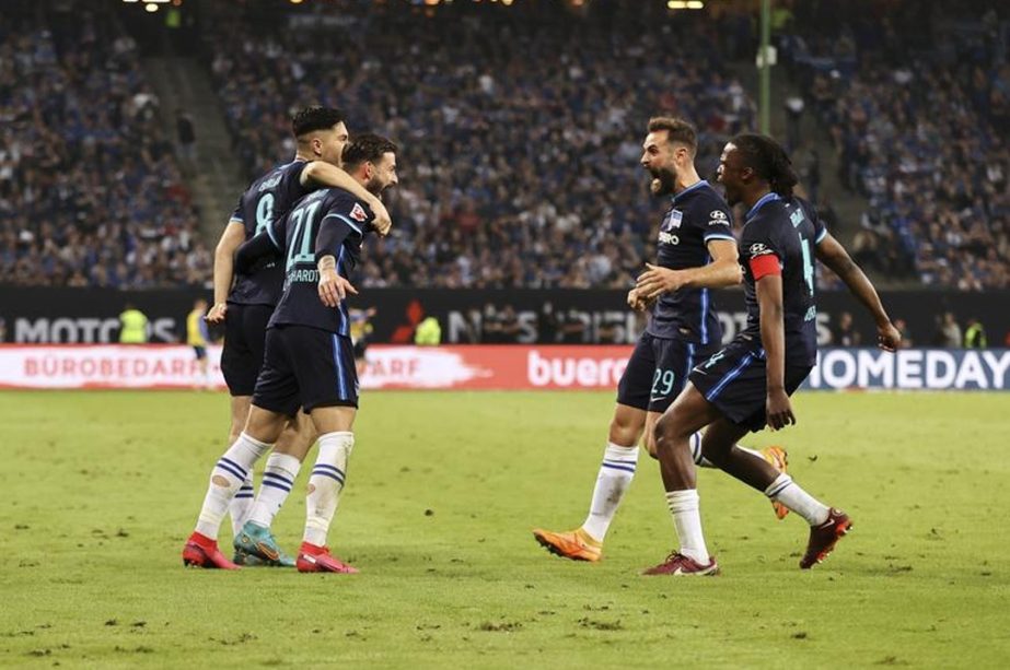
[[[650,575],[710,575],[719,569],[701,532],[689,445],[701,428],[708,460],[810,524],[801,568],[824,560],[851,528],[845,513],[734,446],[747,431],[796,423],[789,396],[806,378],[817,353],[815,254],[872,314],[880,348],[894,351],[901,342],[873,285],[813,207],[792,195],[797,176],[781,146],[764,136],[736,136],[722,152],[718,174],[730,204],[748,208],[740,240],[747,325],[692,371],[684,390],[657,422],[657,454],[680,549],[647,571]]]

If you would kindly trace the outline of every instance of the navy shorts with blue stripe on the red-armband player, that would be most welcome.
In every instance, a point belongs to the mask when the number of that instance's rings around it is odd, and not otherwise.
[[[786,393],[792,393],[813,369],[786,360]],[[767,423],[768,368],[765,350],[754,341],[733,340],[696,366],[690,383],[723,416],[750,431]]]

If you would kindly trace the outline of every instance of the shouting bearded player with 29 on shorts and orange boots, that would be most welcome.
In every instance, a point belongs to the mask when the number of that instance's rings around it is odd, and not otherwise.
[[[740,283],[736,238],[725,201],[698,177],[697,150],[697,134],[687,121],[649,121],[641,165],[652,176],[653,196],[671,202],[660,225],[658,266],[648,266],[628,293],[628,305],[645,309],[654,303],[652,318],[617,387],[617,407],[585,521],[571,531],[533,531],[556,555],[600,560],[604,536],[635,475],[642,434],[646,448],[654,454],[657,419],[676,398],[694,364],[721,345],[722,329],[709,290]],[[708,465],[700,458],[700,436],[694,444],[698,463]],[[782,449],[770,447],[766,455],[785,470]]]

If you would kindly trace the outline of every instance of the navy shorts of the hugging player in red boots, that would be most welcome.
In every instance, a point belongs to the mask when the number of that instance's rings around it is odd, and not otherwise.
[[[358,373],[350,338],[309,326],[267,331],[253,404],[293,416],[320,407],[358,407]]]

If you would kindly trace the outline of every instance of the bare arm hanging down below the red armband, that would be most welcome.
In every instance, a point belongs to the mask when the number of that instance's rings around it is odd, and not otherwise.
[[[755,284],[761,310],[761,342],[767,355],[768,400],[765,411],[773,431],[796,424],[786,393],[786,326],[782,307],[782,275],[766,274]]]

